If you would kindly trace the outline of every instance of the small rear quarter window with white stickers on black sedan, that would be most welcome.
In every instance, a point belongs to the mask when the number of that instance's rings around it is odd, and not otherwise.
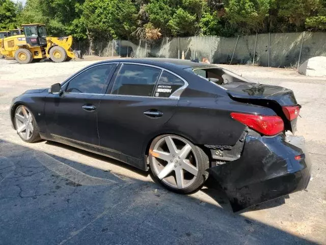
[[[170,97],[170,95],[177,90],[178,88],[182,87],[184,82],[172,75],[167,71],[163,71],[162,76],[159,78],[157,83],[154,96],[155,97]]]

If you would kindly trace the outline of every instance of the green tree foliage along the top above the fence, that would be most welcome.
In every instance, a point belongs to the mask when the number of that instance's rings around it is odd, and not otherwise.
[[[32,22],[79,39],[325,31],[326,0],[0,0],[0,29]]]

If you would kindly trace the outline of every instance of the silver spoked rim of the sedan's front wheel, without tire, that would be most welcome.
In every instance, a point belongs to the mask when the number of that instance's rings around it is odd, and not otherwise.
[[[34,131],[32,113],[24,106],[19,106],[15,113],[16,130],[21,138],[29,140]]]

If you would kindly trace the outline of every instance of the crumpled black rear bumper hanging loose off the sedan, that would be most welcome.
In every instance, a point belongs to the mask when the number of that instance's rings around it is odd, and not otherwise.
[[[294,157],[301,155],[301,160]],[[247,135],[239,159],[208,169],[234,212],[306,189],[311,163],[300,136]]]

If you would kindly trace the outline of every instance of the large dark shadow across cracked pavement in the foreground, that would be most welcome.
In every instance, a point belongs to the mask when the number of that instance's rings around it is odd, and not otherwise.
[[[193,195],[26,146],[0,139],[2,244],[314,244]]]

